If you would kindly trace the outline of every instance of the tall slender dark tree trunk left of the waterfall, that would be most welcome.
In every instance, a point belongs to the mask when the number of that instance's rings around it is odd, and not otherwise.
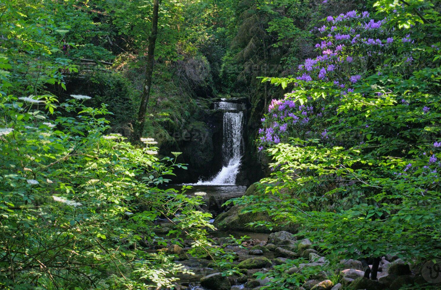
[[[155,44],[158,34],[158,10],[159,0],[153,0],[153,21],[152,33],[149,36],[149,51],[147,55],[146,76],[144,80],[144,88],[142,90],[141,105],[139,106],[138,121],[135,124],[134,140],[139,140],[146,123],[146,110],[149,105],[150,86],[152,85],[153,61],[155,55]]]

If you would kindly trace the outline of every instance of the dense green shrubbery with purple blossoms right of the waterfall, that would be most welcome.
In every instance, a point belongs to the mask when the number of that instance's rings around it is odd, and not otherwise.
[[[342,258],[440,257],[440,17],[430,1],[379,1],[317,26],[317,57],[273,99],[257,140],[265,195],[236,201],[297,224]],[[416,12],[415,12],[416,11]]]

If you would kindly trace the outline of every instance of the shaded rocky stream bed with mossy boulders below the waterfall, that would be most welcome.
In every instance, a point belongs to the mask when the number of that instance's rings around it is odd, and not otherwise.
[[[285,273],[302,273],[310,267],[321,267],[322,271],[302,281],[301,286],[286,284],[285,289],[306,289],[306,290],[338,290],[338,289],[400,289],[405,285],[424,285],[427,283],[422,275],[421,269],[402,261],[396,256],[388,255],[381,257],[379,261],[377,279],[368,279],[372,261],[358,261],[355,259],[341,260],[337,267],[331,267],[326,257],[319,254],[320,249],[305,236],[294,235],[296,229],[277,230],[269,233],[265,228],[251,229],[245,224],[253,220],[266,220],[269,217],[264,213],[241,213],[240,206],[222,207],[228,198],[243,195],[245,187],[232,187],[228,195],[226,188],[212,188],[206,196],[207,206],[204,211],[217,216],[213,220],[217,231],[211,233],[211,238],[222,245],[227,242],[227,237],[233,235],[235,238],[247,235],[240,246],[228,245],[224,247],[225,252],[234,253],[234,264],[240,269],[242,275],[223,276],[217,269],[210,257],[192,257],[186,252],[191,247],[191,240],[186,240],[184,247],[177,245],[169,246],[162,250],[175,254],[177,262],[185,266],[187,270],[194,272],[194,275],[179,275],[177,289],[191,290],[233,290],[233,289],[259,289],[265,284],[274,289],[276,284],[271,284],[272,278],[256,279],[257,272],[268,272],[277,265],[285,264],[289,260],[305,258],[306,262],[293,265],[285,270]],[[196,187],[194,190],[200,190]],[[207,188],[205,188],[207,190]],[[222,194],[213,194],[214,191],[222,191]],[[245,195],[253,194],[254,185],[247,189]],[[164,232],[168,231],[171,224],[161,224]],[[252,230],[252,231],[250,231]],[[370,263],[369,263],[370,262]],[[369,267],[369,269],[368,269]],[[273,282],[275,283],[275,282]],[[280,289],[280,288],[278,288]],[[419,288],[426,289],[426,288]],[[436,288],[435,288],[436,289]],[[440,289],[440,288],[438,288]]]

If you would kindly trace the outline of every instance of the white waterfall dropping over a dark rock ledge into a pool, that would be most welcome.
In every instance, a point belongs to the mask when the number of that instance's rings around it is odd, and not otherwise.
[[[198,185],[235,185],[243,154],[243,103],[215,103],[215,109],[225,110],[223,120],[222,169],[213,179],[199,180]]]

